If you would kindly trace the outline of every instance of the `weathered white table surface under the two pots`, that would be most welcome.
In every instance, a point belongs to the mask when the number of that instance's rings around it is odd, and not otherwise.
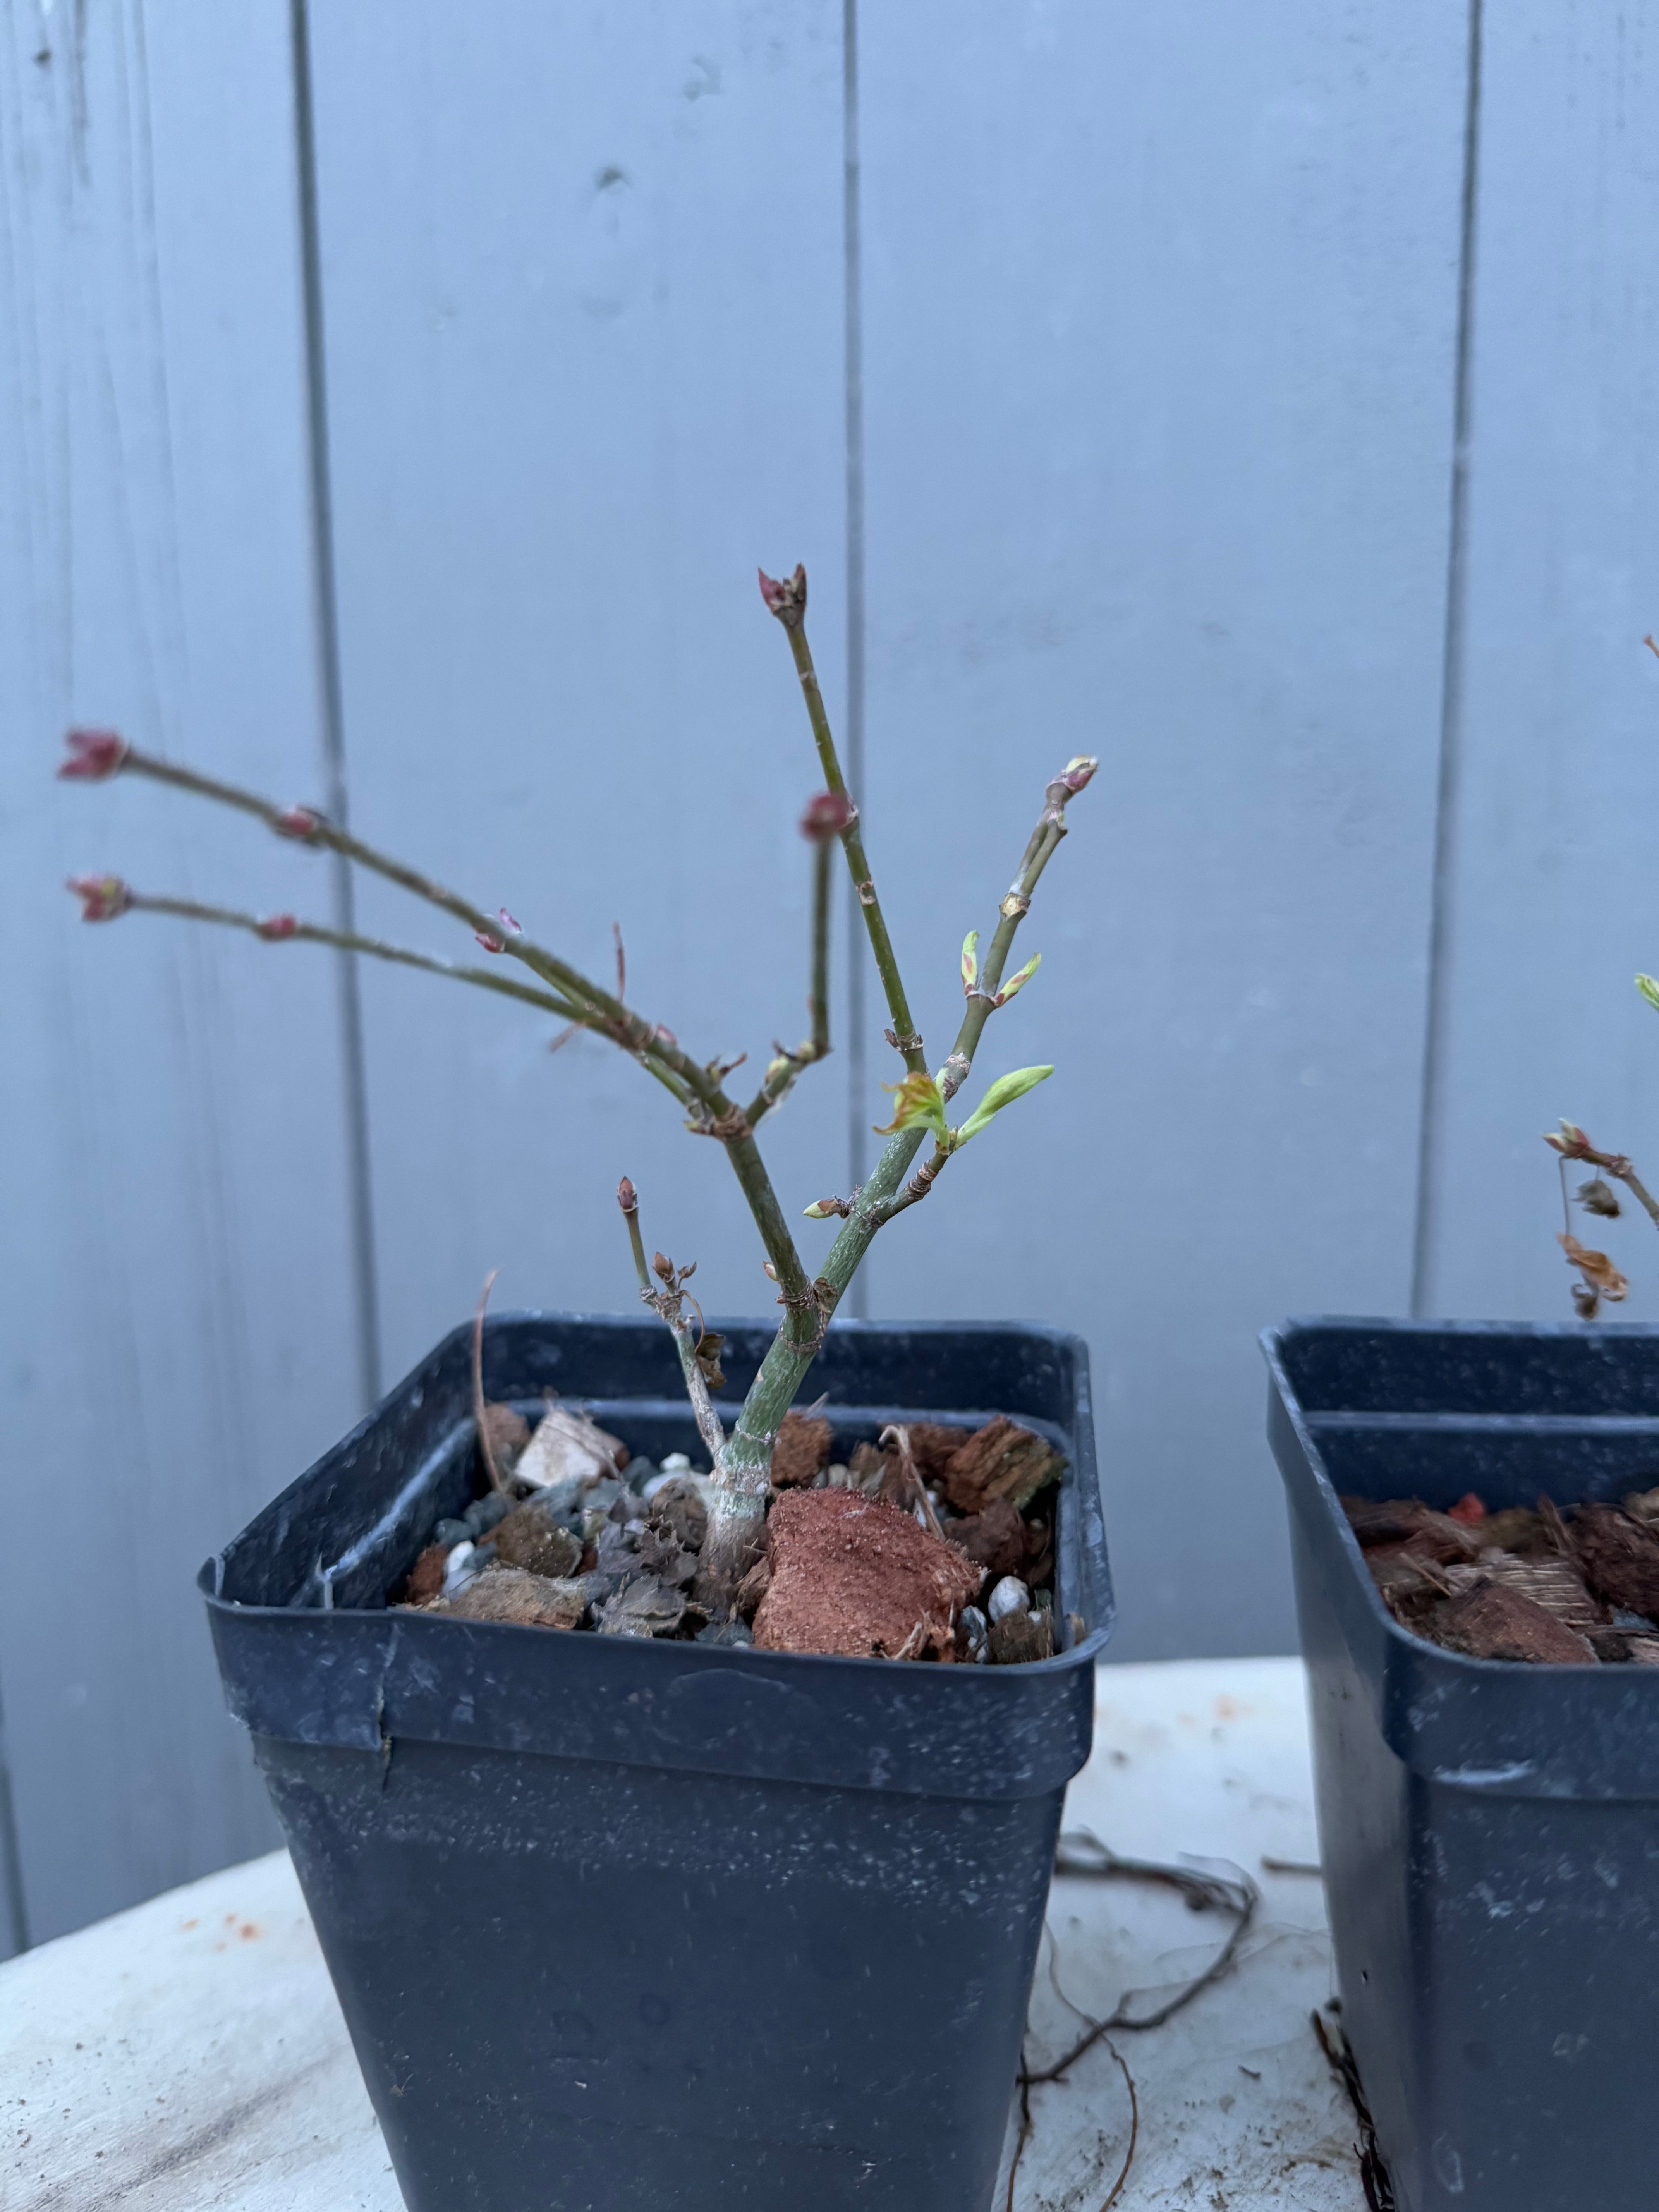
[[[1121,2035],[1139,2130],[1115,2212],[1365,2212],[1349,2110],[1310,2015],[1332,1991],[1294,1659],[1102,1668],[1068,1827],[1135,1858],[1228,1863],[1263,1889],[1241,1962]],[[1221,1869],[1217,1869],[1221,1871]],[[1057,1880],[1031,2055],[1075,2015],[1166,1991],[1225,1929],[1159,1889]],[[288,1858],[230,1867],[0,1966],[7,2212],[400,2212]],[[1097,2046],[1033,2097],[1026,2212],[1099,2212],[1128,2088]],[[1002,2194],[998,2194],[1002,2205]]]

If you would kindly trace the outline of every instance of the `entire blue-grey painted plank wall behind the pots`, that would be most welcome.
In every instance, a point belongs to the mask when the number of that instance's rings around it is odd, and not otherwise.
[[[77,929],[88,865],[334,885],[55,785],[60,730],[343,790],[763,1053],[814,774],[757,560],[810,564],[929,1037],[1044,776],[1104,759],[989,1048],[1060,1073],[869,1310],[1082,1329],[1117,1650],[1287,1648],[1256,1327],[1562,1314],[1537,1130],[1659,1119],[1659,0],[0,15],[0,1951],[270,1838],[192,1573],[491,1265],[624,1305],[626,1170],[765,1301],[599,1044]],[[889,1073],[845,962],[836,1006],[799,1203]]]

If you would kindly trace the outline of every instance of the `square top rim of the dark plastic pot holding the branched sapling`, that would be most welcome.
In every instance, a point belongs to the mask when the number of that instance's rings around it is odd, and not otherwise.
[[[719,1327],[726,1336],[732,1336],[737,1332],[754,1332],[754,1336],[763,1338],[765,1343],[770,1343],[772,1336],[774,1336],[774,1332],[776,1332],[776,1323],[768,1321],[765,1316],[757,1318],[757,1316],[710,1314],[708,1321],[710,1321],[710,1327]],[[502,1310],[500,1314],[491,1314],[487,1318],[484,1329],[487,1329],[487,1334],[498,1334],[498,1332],[507,1332],[507,1329],[511,1329],[515,1325],[524,1327],[524,1325],[538,1325],[538,1323],[542,1323],[542,1325],[544,1323],[560,1323],[560,1325],[566,1325],[566,1327],[571,1327],[571,1325],[602,1327],[602,1329],[615,1329],[619,1336],[622,1334],[639,1334],[639,1336],[648,1336],[653,1340],[657,1336],[657,1327],[653,1323],[641,1321],[635,1314],[588,1314],[588,1312],[564,1312],[564,1310],[555,1310],[555,1307],[515,1307],[515,1310]],[[933,1336],[933,1338],[962,1338],[962,1336],[1002,1336],[1002,1338],[1006,1338],[1006,1336],[1013,1334],[1013,1336],[1020,1336],[1020,1338],[1026,1338],[1026,1340],[1037,1340],[1037,1343],[1053,1345],[1055,1349],[1064,1349],[1075,1360],[1075,1371],[1077,1371],[1077,1425],[1091,1431],[1091,1442],[1084,1444],[1082,1451],[1079,1451],[1079,1438],[1071,1436],[1068,1467],[1066,1467],[1066,1475],[1062,1475],[1062,1500],[1066,1500],[1068,1509],[1088,1513],[1088,1500],[1084,1500],[1079,1495],[1079,1489],[1077,1489],[1077,1478],[1082,1473],[1082,1469],[1077,1467],[1077,1458],[1082,1455],[1082,1458],[1088,1460],[1088,1473],[1093,1478],[1091,1486],[1095,1491],[1095,1515],[1099,1515],[1099,1478],[1097,1478],[1097,1471],[1095,1471],[1095,1453],[1093,1453],[1093,1398],[1091,1398],[1088,1345],[1086,1345],[1086,1340],[1084,1340],[1084,1336],[1079,1332],[1064,1329],[1064,1327],[1060,1327],[1055,1323],[1040,1323],[1040,1321],[984,1321],[984,1318],[982,1321],[938,1321],[938,1318],[936,1321],[902,1321],[902,1318],[852,1318],[849,1316],[845,1321],[834,1318],[830,1323],[830,1334],[832,1336],[841,1336],[843,1340],[845,1338],[856,1338],[856,1336],[880,1338],[880,1336],[898,1336],[898,1334],[902,1334],[902,1336]],[[312,1467],[307,1467],[301,1475],[296,1475],[292,1484],[288,1484],[283,1491],[279,1491],[274,1500],[268,1500],[268,1504],[261,1509],[261,1513],[254,1515],[254,1522],[265,1511],[270,1511],[274,1504],[279,1504],[285,1495],[290,1495],[294,1489],[299,1489],[303,1482],[307,1482],[327,1460],[332,1460],[332,1458],[349,1451],[354,1444],[363,1442],[369,1436],[369,1431],[374,1429],[374,1425],[383,1418],[383,1413],[398,1398],[403,1398],[409,1391],[411,1385],[420,1383],[431,1369],[436,1369],[438,1363],[451,1352],[453,1345],[458,1345],[460,1340],[469,1340],[469,1338],[471,1338],[471,1323],[458,1323],[442,1338],[438,1338],[438,1343],[422,1358],[418,1358],[414,1363],[414,1367],[409,1369],[409,1374],[403,1376],[403,1378],[398,1378],[387,1391],[383,1391],[383,1396],[376,1400],[376,1405],[369,1407],[369,1411],[363,1413],[363,1418],[358,1422],[354,1422],[354,1427],[347,1429],[347,1433],[343,1438],[338,1438],[334,1444],[330,1444],[327,1451],[323,1451],[319,1455],[319,1460],[312,1462]],[[599,1402],[611,1405],[611,1402],[615,1402],[615,1398],[608,1398],[606,1394],[591,1394],[591,1396],[582,1396],[582,1398],[573,1396],[573,1402],[580,1402],[580,1405],[588,1405],[588,1402],[593,1402],[593,1405],[599,1405]],[[834,1411],[834,1409],[827,1409],[827,1411]],[[967,1418],[980,1418],[980,1413],[975,1409],[971,1409],[971,1407],[956,1407],[956,1405],[931,1407],[931,1409],[911,1409],[911,1411],[918,1418],[922,1416],[922,1411],[931,1413],[933,1418],[942,1418],[942,1420],[962,1418],[962,1416],[967,1416]],[[1022,1418],[1033,1420],[1033,1422],[1037,1422],[1042,1427],[1057,1427],[1057,1422],[1051,1422],[1046,1416],[1029,1413],[1029,1416],[1022,1416]],[[456,1626],[465,1626],[469,1630],[469,1641],[471,1641],[471,1637],[478,1637],[480,1632],[487,1632],[489,1639],[491,1639],[491,1644],[493,1644],[493,1648],[498,1648],[502,1652],[513,1650],[513,1644],[502,1644],[502,1637],[520,1639],[518,1641],[520,1650],[531,1650],[531,1648],[542,1648],[544,1646],[544,1639],[546,1639],[549,1630],[535,1628],[535,1626],[529,1626],[529,1624],[518,1624],[518,1621],[465,1621],[465,1624],[458,1624],[458,1621],[447,1619],[447,1617],[422,1617],[418,1613],[405,1613],[405,1610],[398,1610],[398,1608],[392,1608],[392,1606],[294,1606],[292,1601],[290,1604],[246,1604],[241,1599],[226,1597],[223,1590],[221,1590],[223,1568],[226,1568],[226,1551],[230,1548],[230,1544],[239,1542],[241,1535],[246,1535],[248,1528],[254,1526],[254,1522],[243,1524],[243,1528],[234,1537],[230,1537],[226,1546],[221,1546],[219,1551],[210,1553],[208,1559],[204,1559],[204,1564],[201,1564],[201,1568],[197,1573],[197,1588],[199,1588],[201,1597],[206,1599],[208,1613],[212,1617],[237,1619],[237,1621],[248,1621],[248,1624],[261,1621],[261,1624],[270,1624],[270,1626],[279,1626],[281,1624],[283,1628],[290,1628],[290,1626],[292,1628],[301,1628],[303,1626],[312,1635],[319,1632],[316,1630],[319,1621],[338,1621],[341,1626],[354,1624],[356,1630],[358,1630],[358,1635],[372,1632],[374,1628],[378,1628],[378,1632],[385,1632],[385,1635],[392,1635],[392,1630],[396,1630],[398,1637],[416,1635],[420,1639],[431,1637],[434,1632],[445,1632],[445,1630],[453,1632]],[[1082,1531],[1082,1548],[1091,1551],[1091,1548],[1097,1548],[1097,1546],[1102,1548],[1102,1562],[1104,1562],[1104,1533],[1099,1537],[1095,1537],[1093,1531],[1088,1531],[1088,1526],[1084,1526],[1084,1531]],[[1102,1610],[1102,1617],[1095,1624],[1091,1624],[1086,1628],[1086,1632],[1082,1637],[1077,1637],[1075,1644],[1068,1644],[1064,1650],[1053,1652],[1053,1657],[1024,1661],[1018,1668],[991,1668],[991,1666],[967,1666],[967,1663],[929,1666],[929,1668],[920,1668],[920,1670],[911,1668],[909,1677],[916,1677],[918,1672],[922,1674],[922,1679],[933,1679],[933,1677],[940,1677],[940,1679],[942,1677],[951,1677],[951,1679],[953,1677],[969,1677],[969,1679],[973,1679],[973,1677],[982,1677],[982,1679],[991,1679],[991,1681],[1000,1683],[1002,1688],[998,1692],[984,1692],[984,1690],[980,1690],[980,1692],[962,1692],[962,1694],[1004,1694],[1006,1697],[1009,1690],[1011,1690],[1011,1686],[1018,1683],[1018,1681],[1051,1679],[1055,1674],[1068,1674],[1068,1672],[1077,1670],[1079,1666],[1093,1666],[1095,1659],[1099,1657],[1099,1652],[1110,1641],[1115,1624],[1117,1624],[1117,1593],[1113,1588],[1110,1573],[1106,1573],[1106,1590],[1104,1590],[1104,1610]],[[327,1632],[327,1630],[323,1630],[323,1632]],[[684,1641],[659,1639],[659,1637],[626,1637],[624,1639],[624,1637],[591,1637],[591,1635],[582,1635],[580,1641],[584,1646],[588,1646],[588,1644],[595,1644],[595,1646],[617,1644],[617,1646],[624,1646],[628,1650],[637,1650],[637,1648],[650,1646],[661,1657],[657,1661],[646,1661],[646,1666],[657,1663],[657,1666],[677,1666],[677,1668],[684,1668],[686,1663],[690,1663],[697,1670],[712,1668],[712,1666],[745,1666],[745,1668],[757,1668],[759,1670],[768,1661],[810,1661],[814,1666],[814,1670],[825,1670],[825,1668],[838,1670],[838,1672],[854,1670],[847,1679],[858,1679],[858,1674],[867,1674],[867,1677],[880,1674],[887,1681],[894,1679],[894,1672],[891,1672],[894,1670],[894,1661],[891,1659],[854,1657],[854,1655],[843,1655],[843,1652],[772,1652],[772,1650],[757,1650],[754,1646],[697,1646],[697,1644],[684,1644]],[[907,1677],[907,1681],[909,1681],[909,1677]],[[945,1694],[945,1697],[951,1697],[951,1694],[958,1694],[958,1692],[940,1690],[940,1692],[925,1692],[925,1694]]]

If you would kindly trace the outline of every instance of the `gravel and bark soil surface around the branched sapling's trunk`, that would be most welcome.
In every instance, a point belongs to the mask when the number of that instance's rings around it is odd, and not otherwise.
[[[1009,1416],[891,1425],[836,1460],[827,1418],[787,1413],[765,1546],[723,1617],[699,1582],[712,1478],[684,1453],[655,1467],[571,1402],[533,1425],[484,1405],[484,1436],[476,1495],[427,1533],[392,1604],[860,1659],[1020,1666],[1055,1650],[1066,1462]]]

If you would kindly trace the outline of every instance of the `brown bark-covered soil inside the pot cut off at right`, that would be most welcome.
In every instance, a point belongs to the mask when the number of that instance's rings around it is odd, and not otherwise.
[[[1449,1513],[1418,1498],[1345,1498],[1383,1604],[1411,1635],[1471,1659],[1659,1666],[1659,1489],[1624,1504]]]

